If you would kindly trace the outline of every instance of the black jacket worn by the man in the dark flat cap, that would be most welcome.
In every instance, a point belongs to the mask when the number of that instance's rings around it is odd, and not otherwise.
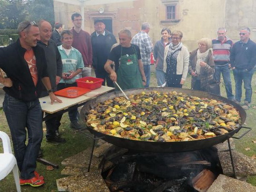
[[[113,44],[116,44],[116,38],[111,33],[105,30],[105,36],[99,35],[97,37],[96,32],[91,34],[91,42],[93,48],[93,67],[99,71],[105,71],[104,65],[108,60]]]

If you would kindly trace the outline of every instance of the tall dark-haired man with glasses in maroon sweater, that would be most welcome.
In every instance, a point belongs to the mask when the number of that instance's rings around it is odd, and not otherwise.
[[[73,33],[73,44],[72,47],[76,48],[81,52],[84,68],[82,70],[82,77],[91,76],[91,67],[93,63],[93,52],[92,44],[90,40],[90,34],[81,29],[82,16],[79,13],[74,13],[71,16],[72,23],[74,24],[71,32]]]

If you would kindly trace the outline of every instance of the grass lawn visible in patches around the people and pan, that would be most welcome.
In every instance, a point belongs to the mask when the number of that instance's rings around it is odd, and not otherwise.
[[[234,86],[234,80],[233,80],[233,74],[231,76],[232,84],[233,84],[233,91],[235,90]],[[183,88],[190,88],[190,81],[191,76],[188,76]],[[240,140],[235,140],[236,149],[244,154],[246,154],[249,157],[252,157],[253,155],[256,155],[256,143],[253,143],[254,140],[256,140],[256,129],[254,129],[254,125],[256,125],[256,75],[253,76],[252,81],[252,87],[253,87],[253,96],[252,96],[252,105],[250,110],[247,112],[247,120],[246,125],[248,127],[253,128],[252,131],[250,131],[249,134],[245,135]],[[151,73],[151,87],[156,87],[157,82],[155,78],[155,74]],[[221,85],[221,95],[226,97],[226,91],[225,87]],[[243,98],[244,98],[244,89],[243,89]],[[242,98],[242,101],[243,101]],[[4,115],[4,112],[2,109],[0,109],[0,130],[6,132],[10,136],[9,127],[6,122],[6,118]],[[84,136],[84,134],[81,134],[77,131],[73,131],[69,127],[70,121],[68,119],[67,113],[65,113],[61,120],[61,126],[60,126],[60,133],[64,138],[66,138],[67,142],[64,144],[52,144],[47,143],[45,140],[45,137],[42,142],[42,149],[44,158],[46,160],[52,161],[59,165],[59,169],[54,169],[52,171],[47,171],[45,165],[41,163],[37,163],[37,171],[45,177],[45,184],[38,188],[33,188],[31,186],[21,186],[22,191],[27,192],[35,192],[35,191],[41,191],[41,192],[55,192],[57,190],[56,186],[56,179],[65,177],[61,175],[61,170],[64,169],[64,166],[61,166],[62,160],[64,160],[67,157],[70,157],[74,154],[77,154],[84,149],[86,149],[88,146],[91,145],[91,139]],[[242,131],[239,131],[239,133]],[[45,125],[44,125],[44,134],[45,134]],[[248,150],[250,148],[250,150]],[[247,149],[247,150],[245,150]],[[0,151],[3,151],[2,142],[0,142]],[[253,184],[256,186],[256,177],[248,177],[247,182]],[[0,181],[0,192],[13,192],[15,191],[15,183],[13,179],[12,173],[9,174],[5,179]]]

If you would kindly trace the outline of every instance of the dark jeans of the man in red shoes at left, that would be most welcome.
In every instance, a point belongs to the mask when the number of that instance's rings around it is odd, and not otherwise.
[[[36,159],[43,139],[40,102],[38,99],[26,102],[5,94],[3,111],[11,131],[20,178],[35,177]],[[26,145],[27,134],[28,143]]]

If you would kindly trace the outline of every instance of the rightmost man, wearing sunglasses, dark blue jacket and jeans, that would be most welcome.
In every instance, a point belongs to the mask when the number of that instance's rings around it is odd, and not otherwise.
[[[242,82],[244,82],[245,99],[242,107],[244,110],[250,108],[252,98],[251,81],[253,68],[256,63],[256,44],[250,40],[250,29],[241,29],[240,41],[236,42],[230,52],[230,64],[233,69],[236,82],[236,101],[240,104],[242,96]]]

